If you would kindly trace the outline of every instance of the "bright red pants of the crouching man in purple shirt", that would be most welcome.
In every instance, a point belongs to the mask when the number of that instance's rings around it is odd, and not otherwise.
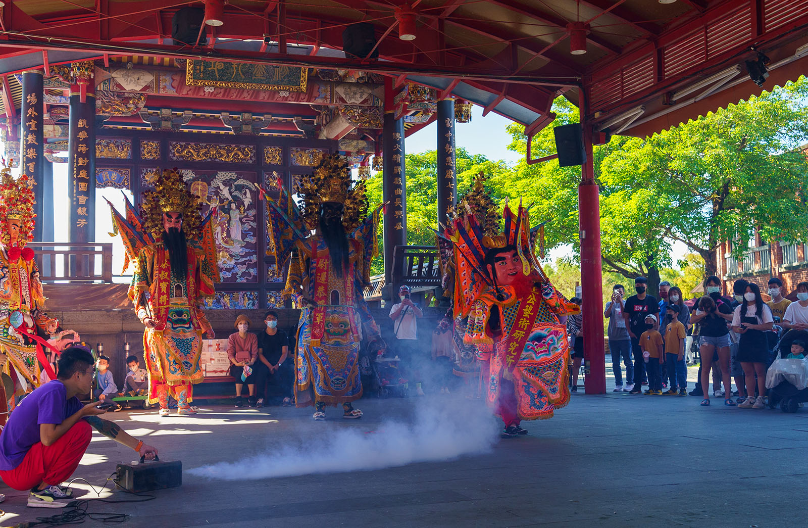
[[[19,491],[29,490],[43,482],[48,485],[60,484],[76,471],[92,436],[90,424],[78,420],[76,425],[50,446],[36,442],[19,466],[0,471],[0,477],[9,487]]]

